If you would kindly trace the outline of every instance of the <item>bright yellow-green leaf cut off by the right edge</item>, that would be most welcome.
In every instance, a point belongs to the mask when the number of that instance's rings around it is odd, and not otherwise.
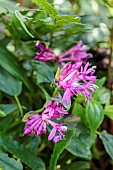
[[[113,120],[113,105],[106,105],[105,108],[104,108],[104,113],[111,120]]]

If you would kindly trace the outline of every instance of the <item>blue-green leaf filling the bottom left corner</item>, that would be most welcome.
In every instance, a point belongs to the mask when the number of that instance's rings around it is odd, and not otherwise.
[[[23,170],[20,162],[13,158],[9,158],[7,154],[0,152],[0,169],[4,170]]]

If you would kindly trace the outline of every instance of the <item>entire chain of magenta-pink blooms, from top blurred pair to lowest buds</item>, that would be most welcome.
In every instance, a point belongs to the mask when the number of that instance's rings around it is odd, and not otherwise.
[[[82,41],[70,48],[68,51],[56,56],[52,49],[47,48],[44,43],[36,44],[38,49],[35,59],[45,62],[54,60],[61,64],[62,68],[55,77],[58,89],[63,90],[63,97],[58,93],[57,100],[50,100],[45,104],[44,111],[41,115],[35,114],[28,117],[24,134],[35,134],[40,136],[46,133],[46,126],[50,125],[52,130],[48,136],[48,140],[58,142],[65,138],[65,132],[68,128],[64,124],[54,122],[54,119],[61,119],[63,115],[67,115],[68,111],[63,103],[70,104],[71,97],[74,95],[83,95],[86,100],[92,100],[92,94],[97,90],[96,77],[94,76],[95,67],[90,67],[88,58],[92,55],[86,52],[82,46]],[[67,63],[68,62],[68,63]],[[60,100],[58,100],[60,99]],[[61,101],[61,102],[60,102]]]

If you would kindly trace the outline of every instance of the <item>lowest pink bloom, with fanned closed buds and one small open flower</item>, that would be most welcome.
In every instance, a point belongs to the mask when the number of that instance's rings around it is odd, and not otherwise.
[[[24,135],[35,134],[36,136],[40,136],[42,133],[46,133],[47,124],[50,124],[53,127],[48,136],[48,140],[53,139],[54,142],[58,142],[59,140],[64,139],[64,132],[67,131],[67,127],[53,122],[45,113],[42,113],[42,115],[36,114],[28,118]],[[55,136],[57,132],[59,135]]]

